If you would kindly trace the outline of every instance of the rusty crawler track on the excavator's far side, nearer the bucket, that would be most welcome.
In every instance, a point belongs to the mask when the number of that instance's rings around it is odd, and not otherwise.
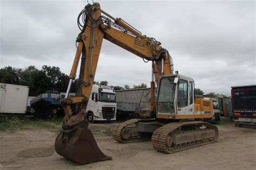
[[[120,143],[133,143],[138,141],[144,141],[149,140],[150,138],[148,136],[144,136],[143,134],[141,136],[131,137],[129,139],[123,139],[122,138],[122,129],[125,128],[125,126],[129,126],[131,124],[139,122],[141,119],[130,119],[129,121],[123,122],[117,126],[115,126],[112,129],[112,137],[114,140],[119,141]]]

